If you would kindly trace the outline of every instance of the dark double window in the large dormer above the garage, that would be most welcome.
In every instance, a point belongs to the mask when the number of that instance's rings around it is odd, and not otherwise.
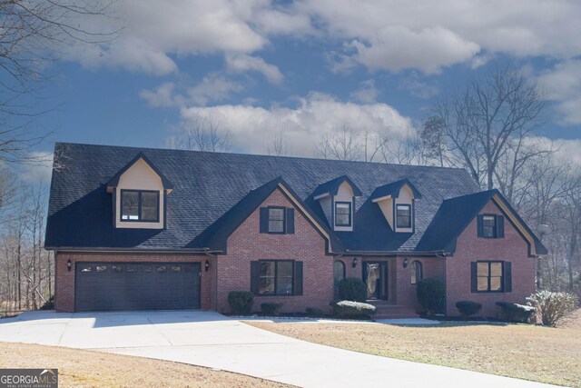
[[[160,221],[160,193],[122,190],[121,221],[157,223]]]

